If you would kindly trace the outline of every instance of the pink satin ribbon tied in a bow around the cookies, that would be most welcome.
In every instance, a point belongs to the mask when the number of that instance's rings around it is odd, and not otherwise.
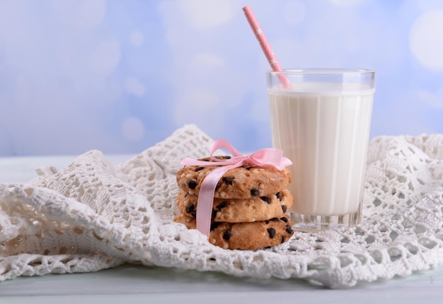
[[[219,159],[213,154],[219,149],[225,149],[231,153],[233,157],[229,159]],[[197,230],[205,234],[209,238],[209,230],[211,228],[212,203],[214,201],[214,192],[217,183],[228,170],[241,167],[242,165],[254,165],[255,167],[273,166],[278,170],[283,170],[288,165],[292,165],[292,161],[283,156],[283,151],[276,148],[263,148],[252,154],[243,155],[236,150],[228,141],[217,139],[209,148],[209,155],[213,161],[195,160],[192,158],[184,158],[180,165],[219,165],[220,168],[212,170],[205,177],[197,200]]]

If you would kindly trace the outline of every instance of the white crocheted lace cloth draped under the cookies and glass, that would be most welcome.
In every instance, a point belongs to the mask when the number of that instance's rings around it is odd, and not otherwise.
[[[359,226],[257,251],[214,247],[172,221],[178,163],[207,156],[211,142],[187,125],[115,167],[89,151],[26,185],[0,184],[0,281],[141,262],[335,288],[443,262],[443,135],[372,140]]]

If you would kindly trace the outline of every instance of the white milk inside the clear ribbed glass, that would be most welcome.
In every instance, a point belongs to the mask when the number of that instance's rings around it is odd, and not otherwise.
[[[374,90],[343,95],[341,83],[327,85],[268,92],[272,145],[293,162],[291,211],[298,214],[351,214],[362,200]]]

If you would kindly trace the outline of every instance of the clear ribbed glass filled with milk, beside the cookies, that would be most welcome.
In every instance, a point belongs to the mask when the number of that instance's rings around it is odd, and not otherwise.
[[[365,69],[267,72],[272,146],[293,162],[294,228],[359,223],[374,90],[375,71]]]

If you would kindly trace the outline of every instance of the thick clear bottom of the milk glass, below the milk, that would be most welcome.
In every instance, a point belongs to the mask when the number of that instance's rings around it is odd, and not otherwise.
[[[292,221],[292,228],[299,231],[315,232],[328,229],[351,228],[360,223],[362,207],[360,204],[356,212],[340,216],[313,216],[289,211],[289,218]]]

